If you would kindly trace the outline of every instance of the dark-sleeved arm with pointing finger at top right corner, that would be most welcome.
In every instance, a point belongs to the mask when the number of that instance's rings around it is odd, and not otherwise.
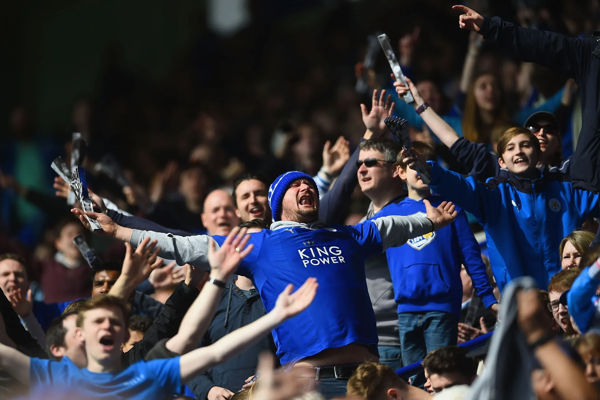
[[[486,41],[496,43],[519,61],[535,62],[578,83],[587,75],[590,57],[595,46],[592,38],[578,39],[554,32],[521,28],[499,17],[482,17],[464,5],[455,5],[464,14],[458,17],[458,26],[478,32]]]

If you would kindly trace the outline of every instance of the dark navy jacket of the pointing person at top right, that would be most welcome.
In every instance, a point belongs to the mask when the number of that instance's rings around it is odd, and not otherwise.
[[[479,32],[514,58],[536,62],[575,79],[580,88],[583,124],[571,179],[575,189],[600,192],[600,37],[572,38],[521,28],[499,17],[485,18]]]

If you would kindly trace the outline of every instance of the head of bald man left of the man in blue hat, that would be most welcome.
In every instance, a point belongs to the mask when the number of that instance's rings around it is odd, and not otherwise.
[[[229,193],[223,189],[215,189],[206,196],[202,210],[202,224],[209,235],[227,236],[240,222]]]

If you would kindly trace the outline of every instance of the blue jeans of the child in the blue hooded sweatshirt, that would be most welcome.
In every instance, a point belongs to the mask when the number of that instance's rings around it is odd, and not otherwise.
[[[458,338],[458,317],[449,312],[402,312],[398,314],[400,348],[404,366],[418,362],[430,351],[455,346]],[[412,377],[412,384],[425,384],[425,374]]]

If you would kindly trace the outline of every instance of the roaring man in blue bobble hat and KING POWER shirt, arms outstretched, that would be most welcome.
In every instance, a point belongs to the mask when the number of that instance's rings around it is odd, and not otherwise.
[[[452,203],[431,207],[427,218],[385,216],[358,225],[325,226],[318,221],[319,193],[313,179],[301,172],[279,176],[269,188],[274,223],[250,234],[253,251],[238,274],[259,289],[265,310],[275,306],[277,293],[289,283],[315,276],[322,288],[302,318],[273,331],[282,365],[313,368],[314,380],[328,398],[346,393],[347,378],[360,363],[377,361],[377,331],[365,282],[364,261],[412,237],[430,233],[454,221]],[[87,224],[81,210],[73,213]],[[206,265],[210,237],[175,236],[137,231],[116,225],[107,215],[98,219],[106,234],[137,246],[146,236],[158,240],[166,258],[179,264]],[[224,237],[215,236],[218,243]]]

